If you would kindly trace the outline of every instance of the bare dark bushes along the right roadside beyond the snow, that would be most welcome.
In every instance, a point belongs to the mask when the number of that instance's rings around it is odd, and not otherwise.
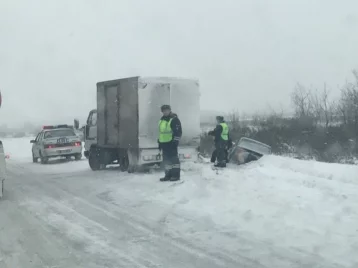
[[[358,164],[358,72],[345,82],[338,96],[324,84],[313,89],[296,84],[291,93],[293,115],[272,110],[242,120],[227,117],[233,140],[249,137],[266,143],[278,155],[325,162]],[[210,154],[212,138],[202,134],[200,151]]]

